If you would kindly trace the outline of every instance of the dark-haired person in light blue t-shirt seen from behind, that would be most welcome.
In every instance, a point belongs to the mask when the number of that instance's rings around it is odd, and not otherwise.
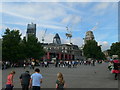
[[[32,90],[40,90],[41,83],[42,83],[42,75],[40,74],[40,69],[36,68],[35,73],[31,75],[30,79],[30,88],[32,87]]]

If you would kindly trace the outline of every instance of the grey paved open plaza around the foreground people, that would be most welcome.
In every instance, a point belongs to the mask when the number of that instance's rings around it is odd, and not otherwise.
[[[114,80],[114,75],[107,69],[108,63],[96,64],[96,66],[79,65],[77,68],[60,67],[49,68],[38,67],[43,75],[42,88],[55,88],[56,74],[62,72],[67,84],[67,88],[118,88],[118,80]],[[11,70],[15,70],[14,85],[15,88],[21,88],[19,76],[21,73],[29,70],[32,74],[34,71],[27,67],[26,69],[9,68],[2,71],[2,87],[5,87],[7,75]]]

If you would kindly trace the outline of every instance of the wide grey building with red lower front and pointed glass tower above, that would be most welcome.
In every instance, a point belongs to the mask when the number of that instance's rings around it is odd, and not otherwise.
[[[82,51],[77,45],[61,44],[61,40],[58,34],[53,38],[53,43],[42,44],[46,55],[45,60],[81,60]]]

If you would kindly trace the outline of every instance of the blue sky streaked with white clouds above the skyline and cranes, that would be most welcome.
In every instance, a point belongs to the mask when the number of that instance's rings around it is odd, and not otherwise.
[[[3,0],[4,1],[4,0]],[[32,0],[31,0],[32,1]],[[45,30],[45,42],[52,43],[56,33],[63,44],[69,43],[66,38],[66,26],[72,31],[72,43],[79,47],[83,44],[85,33],[93,31],[95,40],[102,45],[102,50],[118,41],[118,3],[117,2],[8,2],[0,3],[0,34],[5,29],[20,30],[26,35],[27,24],[37,25],[37,38],[42,40]]]

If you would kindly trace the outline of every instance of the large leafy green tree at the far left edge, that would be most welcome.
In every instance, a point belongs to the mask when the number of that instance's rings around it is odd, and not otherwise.
[[[21,34],[19,30],[6,29],[2,36],[2,59],[16,62],[19,59],[19,43]]]

